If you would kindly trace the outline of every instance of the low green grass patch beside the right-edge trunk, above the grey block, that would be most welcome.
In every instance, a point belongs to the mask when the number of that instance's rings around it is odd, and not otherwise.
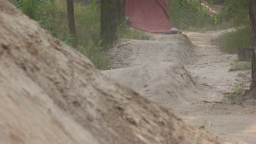
[[[236,53],[236,48],[250,48],[251,47],[251,34],[250,28],[244,27],[236,29],[230,33],[224,33],[217,39],[217,43],[223,52]]]

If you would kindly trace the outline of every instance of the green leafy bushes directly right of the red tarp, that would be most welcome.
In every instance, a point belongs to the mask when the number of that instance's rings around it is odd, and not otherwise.
[[[207,0],[207,2],[212,3],[212,0]],[[174,27],[181,29],[187,29],[190,26],[202,28],[208,25],[215,26],[215,24],[223,22],[221,21],[223,20],[222,17],[219,18],[216,13],[210,13],[208,7],[201,5],[199,2],[167,0],[167,3]],[[218,21],[219,19],[221,20]]]

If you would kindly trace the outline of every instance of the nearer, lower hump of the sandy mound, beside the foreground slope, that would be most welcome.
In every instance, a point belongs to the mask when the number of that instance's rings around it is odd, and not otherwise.
[[[196,92],[189,73],[172,62],[112,69],[103,73],[167,108],[175,109],[177,103],[187,104],[187,100],[192,99],[185,95]]]

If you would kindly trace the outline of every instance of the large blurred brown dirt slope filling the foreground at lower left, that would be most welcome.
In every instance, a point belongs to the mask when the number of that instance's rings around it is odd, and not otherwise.
[[[0,143],[219,144],[0,0]]]

